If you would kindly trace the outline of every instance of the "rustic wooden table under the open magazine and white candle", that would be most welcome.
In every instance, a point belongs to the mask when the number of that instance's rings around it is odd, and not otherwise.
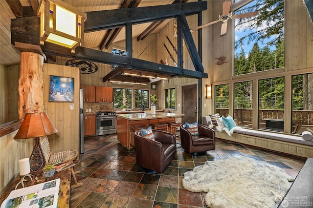
[[[69,190],[70,190],[70,176],[71,176],[71,168],[64,169],[60,172],[55,172],[54,175],[50,178],[46,178],[43,173],[34,174],[33,182],[26,177],[24,182],[24,187],[29,187],[38,184],[36,181],[36,177],[39,180],[42,180],[40,183],[44,183],[46,181],[51,181],[57,178],[61,179],[60,191],[59,191],[59,199],[58,199],[58,208],[68,208],[69,207]],[[2,202],[8,197],[12,190],[16,187],[16,185],[21,181],[22,177],[18,175],[11,185],[5,190],[5,192],[1,195],[0,205]],[[19,185],[18,188],[21,188],[22,185]]]

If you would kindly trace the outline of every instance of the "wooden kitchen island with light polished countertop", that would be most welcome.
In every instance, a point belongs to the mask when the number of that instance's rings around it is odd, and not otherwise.
[[[130,128],[134,125],[149,125],[166,122],[175,122],[176,117],[182,117],[184,114],[156,112],[155,115],[145,113],[125,113],[116,114],[117,140],[130,149]]]

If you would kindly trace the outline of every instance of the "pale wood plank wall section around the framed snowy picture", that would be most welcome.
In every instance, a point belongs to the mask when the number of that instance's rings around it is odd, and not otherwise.
[[[49,75],[74,78],[74,110],[69,109],[70,103],[49,102]],[[51,152],[79,151],[79,70],[76,67],[45,63],[44,76],[44,112],[59,131],[48,136]]]

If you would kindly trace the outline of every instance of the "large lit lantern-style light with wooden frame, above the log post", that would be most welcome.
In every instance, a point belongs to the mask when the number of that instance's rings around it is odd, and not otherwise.
[[[60,0],[43,0],[38,10],[40,17],[40,43],[51,42],[75,48],[84,42],[85,12]]]

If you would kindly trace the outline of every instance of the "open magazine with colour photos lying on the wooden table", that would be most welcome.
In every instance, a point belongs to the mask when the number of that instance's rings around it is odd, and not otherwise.
[[[57,208],[61,180],[11,191],[1,208]]]

